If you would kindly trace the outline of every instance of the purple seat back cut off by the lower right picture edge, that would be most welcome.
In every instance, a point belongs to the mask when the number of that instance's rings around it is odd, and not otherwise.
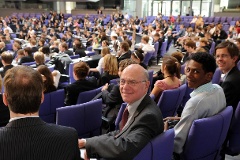
[[[226,154],[235,156],[240,153],[240,102],[232,117],[231,126],[228,132],[228,146]]]

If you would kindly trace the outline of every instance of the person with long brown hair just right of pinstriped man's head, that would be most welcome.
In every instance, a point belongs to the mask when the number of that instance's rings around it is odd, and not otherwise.
[[[40,65],[37,67],[37,71],[42,75],[44,82],[44,93],[56,91],[57,88],[54,86],[53,75],[47,66]]]

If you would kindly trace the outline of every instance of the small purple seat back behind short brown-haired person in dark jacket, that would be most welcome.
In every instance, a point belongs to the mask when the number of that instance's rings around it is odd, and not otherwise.
[[[77,104],[82,104],[91,101],[97,94],[101,92],[102,87],[90,91],[80,92],[77,99]]]

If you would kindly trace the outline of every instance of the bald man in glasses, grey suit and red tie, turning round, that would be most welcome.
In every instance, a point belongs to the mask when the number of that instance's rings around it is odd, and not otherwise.
[[[79,147],[86,148],[89,158],[133,159],[154,137],[163,132],[160,109],[147,94],[148,72],[138,64],[125,68],[119,87],[127,103],[120,122],[120,130],[89,139],[80,139]],[[127,118],[125,117],[125,112]]]

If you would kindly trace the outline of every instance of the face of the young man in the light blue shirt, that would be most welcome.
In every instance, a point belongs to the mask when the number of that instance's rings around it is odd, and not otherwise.
[[[196,89],[201,85],[204,85],[211,81],[212,72],[206,73],[203,70],[202,64],[194,60],[190,60],[185,67],[185,74],[187,76],[187,82],[189,88]]]

